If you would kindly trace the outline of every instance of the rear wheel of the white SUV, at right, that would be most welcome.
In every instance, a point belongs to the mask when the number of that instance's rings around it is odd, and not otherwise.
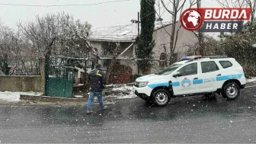
[[[235,100],[240,95],[240,88],[235,82],[229,82],[222,87],[222,97],[227,100]]]

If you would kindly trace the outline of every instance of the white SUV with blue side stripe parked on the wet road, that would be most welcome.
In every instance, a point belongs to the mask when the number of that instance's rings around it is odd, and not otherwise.
[[[162,72],[136,78],[133,91],[139,98],[165,106],[172,96],[217,93],[234,100],[245,84],[244,69],[233,58],[184,56]]]

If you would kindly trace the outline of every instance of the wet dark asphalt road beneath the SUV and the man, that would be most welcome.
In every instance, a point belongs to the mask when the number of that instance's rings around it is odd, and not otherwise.
[[[85,106],[1,105],[0,143],[256,143],[256,87],[235,101],[136,98],[87,115]]]

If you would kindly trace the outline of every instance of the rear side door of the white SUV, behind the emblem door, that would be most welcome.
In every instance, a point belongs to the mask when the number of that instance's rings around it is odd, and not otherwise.
[[[221,75],[219,66],[215,61],[200,62],[200,92],[212,92],[216,91],[218,82],[216,77]]]

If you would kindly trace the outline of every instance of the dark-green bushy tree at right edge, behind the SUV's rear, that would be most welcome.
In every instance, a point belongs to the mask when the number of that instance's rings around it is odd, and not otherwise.
[[[253,46],[256,43],[255,25],[255,21],[249,21],[242,34],[226,35],[222,42],[226,55],[235,58],[245,67],[247,77],[256,76],[256,48]]]

